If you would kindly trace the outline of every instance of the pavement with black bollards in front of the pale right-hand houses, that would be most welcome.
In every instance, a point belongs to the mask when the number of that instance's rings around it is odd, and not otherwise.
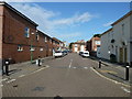
[[[99,65],[98,58],[91,58]],[[95,70],[97,70],[99,74],[103,75],[105,77],[113,80],[114,82],[120,82],[125,86],[132,85],[132,68],[129,68],[129,80],[127,80],[127,68],[124,65],[119,65],[117,63],[110,63],[108,61],[101,61],[101,68],[99,66],[94,67]]]

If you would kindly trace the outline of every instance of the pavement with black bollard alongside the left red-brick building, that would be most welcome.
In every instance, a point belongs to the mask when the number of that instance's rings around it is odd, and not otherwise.
[[[36,61],[31,62],[24,62],[24,63],[18,63],[18,64],[11,64],[9,65],[9,76],[3,75],[1,81],[10,80],[10,79],[16,79],[19,77],[24,77],[26,75],[40,72],[42,69],[47,68],[48,66],[43,65],[43,63],[46,61],[53,59],[53,56],[42,58],[42,66],[37,66],[35,63]]]

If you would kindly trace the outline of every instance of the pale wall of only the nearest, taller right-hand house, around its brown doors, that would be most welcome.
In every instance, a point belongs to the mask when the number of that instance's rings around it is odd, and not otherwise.
[[[122,32],[122,24],[124,24],[124,33]],[[116,38],[116,46],[118,46],[118,62],[120,61],[120,54],[119,54],[119,50],[120,47],[127,47],[128,50],[128,61],[130,62],[130,16],[123,19],[122,21],[120,21],[119,23],[117,23],[116,25],[113,25],[113,32],[114,32],[114,38]],[[122,45],[122,42],[125,43],[125,46]],[[123,58],[124,61],[124,58]]]

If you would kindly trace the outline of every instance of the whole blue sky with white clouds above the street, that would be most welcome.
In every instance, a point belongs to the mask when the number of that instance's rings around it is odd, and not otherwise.
[[[130,2],[9,2],[38,30],[68,43],[101,34],[130,11]]]

